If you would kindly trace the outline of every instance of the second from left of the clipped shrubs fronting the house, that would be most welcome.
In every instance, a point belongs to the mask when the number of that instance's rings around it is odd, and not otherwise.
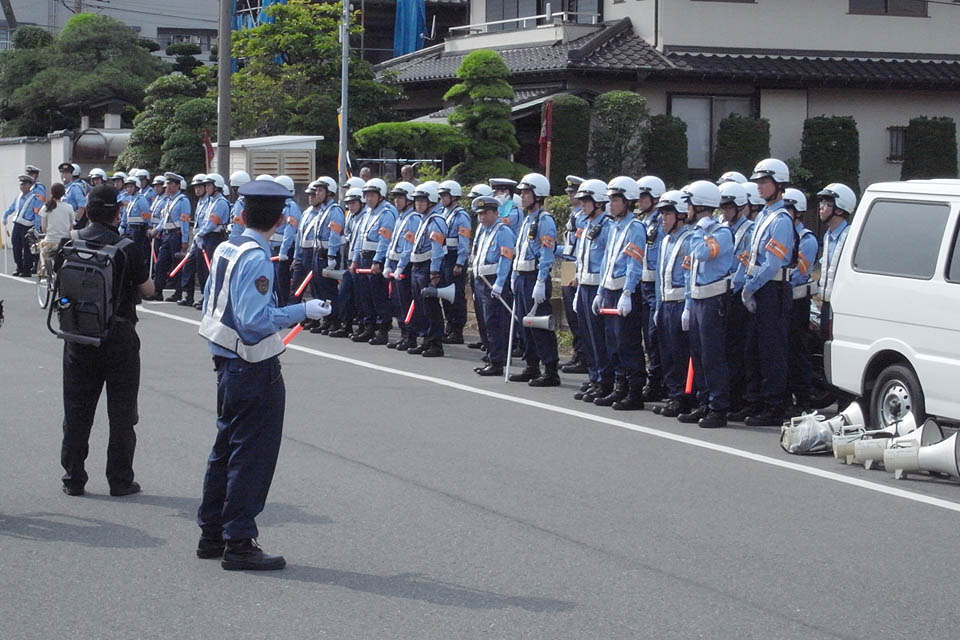
[[[636,176],[643,167],[643,131],[650,111],[643,96],[608,91],[593,103],[590,169],[594,175]]]

